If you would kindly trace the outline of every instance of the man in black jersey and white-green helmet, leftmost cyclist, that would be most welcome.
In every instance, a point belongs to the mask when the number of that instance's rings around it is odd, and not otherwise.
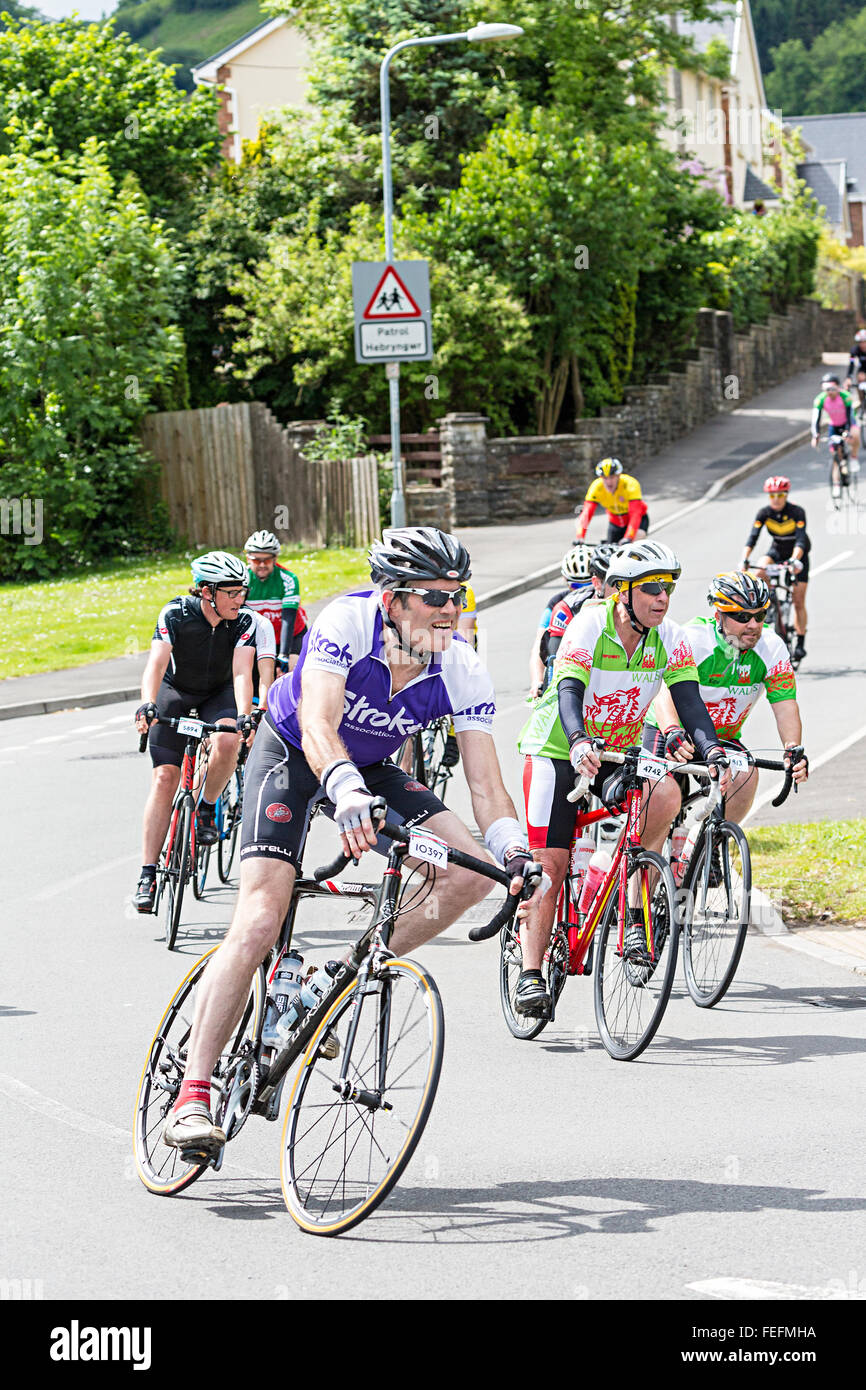
[[[161,610],[150,657],[142,677],[142,703],[135,724],[143,734],[156,713],[167,719],[196,709],[209,724],[225,724],[225,734],[210,741],[207,780],[196,812],[196,838],[209,845],[217,838],[214,803],[238,759],[238,733],[253,702],[256,617],[247,609],[246,566],[224,550],[193,560],[195,591],[172,599]],[[164,724],[150,728],[153,776],[145,806],[142,873],[133,903],[152,912],[156,862],[171,819],[171,803],[181,780],[183,735]]]

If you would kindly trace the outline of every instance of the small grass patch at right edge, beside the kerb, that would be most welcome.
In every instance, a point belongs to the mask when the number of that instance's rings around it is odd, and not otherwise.
[[[866,820],[749,830],[752,878],[788,922],[866,924]]]

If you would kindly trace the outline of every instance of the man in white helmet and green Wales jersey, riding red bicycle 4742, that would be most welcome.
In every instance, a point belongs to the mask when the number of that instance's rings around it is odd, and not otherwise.
[[[621,799],[621,769],[605,763],[603,751],[596,753],[589,738],[603,738],[619,752],[634,748],[641,742],[652,699],[662,685],[669,687],[699,756],[721,774],[727,791],[727,762],[698,694],[688,638],[667,617],[678,575],[680,562],[657,541],[635,541],[613,555],[607,570],[613,598],[585,605],[569,623],[553,681],[520,735],[530,847],[553,887],[539,903],[537,922],[521,927],[524,970],[516,991],[520,1013],[544,1015],[550,1005],[541,965],[569,866],[577,806],[567,796],[575,774],[591,777],[592,791],[609,805]],[[641,812],[641,842],[660,849],[681,796],[673,777],[651,784],[651,791]],[[646,948],[641,910],[637,902],[630,905],[626,947],[635,959]]]

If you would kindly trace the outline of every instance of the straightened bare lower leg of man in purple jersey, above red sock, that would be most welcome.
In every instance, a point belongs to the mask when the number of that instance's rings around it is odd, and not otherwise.
[[[292,897],[295,869],[278,859],[243,859],[235,915],[210,962],[196,998],[186,1076],[210,1076],[231,1037],[253,974],[279,935]]]

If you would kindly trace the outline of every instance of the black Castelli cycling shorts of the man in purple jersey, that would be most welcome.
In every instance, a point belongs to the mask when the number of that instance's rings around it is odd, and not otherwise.
[[[359,771],[370,791],[388,802],[389,820],[420,826],[446,809],[438,796],[396,763],[371,763],[359,767]],[[334,803],[304,755],[277,733],[265,714],[243,774],[240,859],[281,859],[300,873],[310,816],[317,802],[322,802],[327,816],[334,816]],[[391,841],[385,838],[377,845],[385,855],[389,848]]]

